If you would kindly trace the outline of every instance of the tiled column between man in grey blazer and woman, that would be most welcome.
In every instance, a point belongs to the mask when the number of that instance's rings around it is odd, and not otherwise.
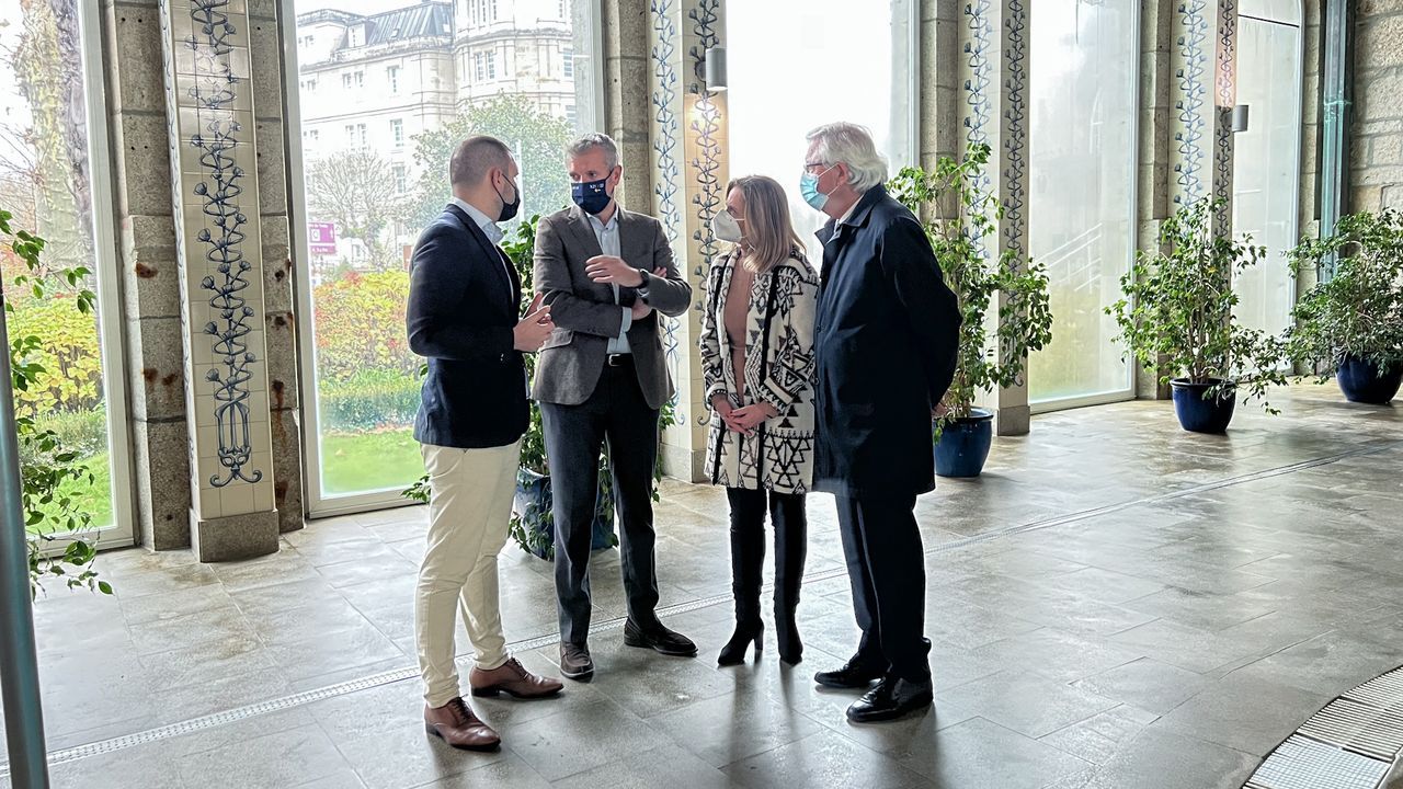
[[[666,319],[664,350],[676,385],[678,424],[662,438],[672,476],[704,479],[707,406],[697,338],[706,272],[720,251],[711,219],[724,209],[725,105],[706,90],[706,51],[721,45],[721,0],[650,0],[652,25],[652,212],[692,284],[692,309]]]

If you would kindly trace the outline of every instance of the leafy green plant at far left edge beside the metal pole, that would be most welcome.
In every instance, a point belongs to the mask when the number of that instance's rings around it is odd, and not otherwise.
[[[0,209],[0,243],[7,247],[0,254],[13,253],[24,264],[24,274],[17,275],[11,285],[32,296],[35,303],[72,302],[70,309],[93,314],[97,295],[84,286],[91,272],[84,267],[42,268],[43,239],[14,227],[13,219],[8,211]],[[17,324],[15,305],[4,298],[4,284],[0,284],[0,302],[6,321]],[[15,400],[21,400],[48,372],[39,359],[51,354],[51,348],[32,329],[17,331],[8,340],[10,385]],[[66,448],[52,430],[39,428],[32,416],[18,414],[14,427],[21,458],[20,508],[29,548],[31,597],[36,597],[51,580],[69,588],[112,594],[111,584],[100,580],[93,569],[97,546],[83,538],[93,528],[93,515],[63,493],[63,486],[70,482],[93,484],[93,473],[80,462],[77,451]],[[0,430],[7,427],[0,425]]]

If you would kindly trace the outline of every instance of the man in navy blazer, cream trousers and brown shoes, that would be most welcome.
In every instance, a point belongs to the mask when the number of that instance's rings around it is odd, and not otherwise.
[[[544,698],[563,687],[506,654],[497,591],[530,414],[522,354],[540,350],[556,327],[539,299],[519,317],[521,279],[497,246],[497,223],[521,206],[516,175],[501,140],[463,140],[449,163],[453,199],[419,236],[410,264],[410,348],[428,358],[414,438],[432,491],[414,598],[424,724],[466,750],[495,750],[501,740],[460,695],[460,611],[477,653],[473,695]]]

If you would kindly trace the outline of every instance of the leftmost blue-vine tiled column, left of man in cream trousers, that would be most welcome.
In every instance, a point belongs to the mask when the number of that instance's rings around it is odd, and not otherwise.
[[[163,0],[166,101],[202,562],[278,549],[244,0]]]

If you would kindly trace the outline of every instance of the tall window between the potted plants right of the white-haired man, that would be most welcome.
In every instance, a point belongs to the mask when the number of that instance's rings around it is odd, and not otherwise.
[[[1028,247],[1048,270],[1054,326],[1028,389],[1045,404],[1132,393],[1103,307],[1135,254],[1136,6],[1033,6]]]

